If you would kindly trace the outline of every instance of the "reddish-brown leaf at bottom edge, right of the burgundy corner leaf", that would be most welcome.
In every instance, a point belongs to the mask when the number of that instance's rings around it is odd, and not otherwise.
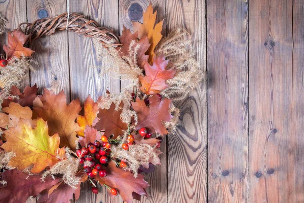
[[[73,199],[73,194],[75,194],[75,200],[79,199],[80,196],[80,184],[79,183],[76,188],[72,188],[69,185],[61,182],[58,183],[58,186],[50,193],[48,190],[44,190],[38,199],[38,203],[70,203],[70,199]]]

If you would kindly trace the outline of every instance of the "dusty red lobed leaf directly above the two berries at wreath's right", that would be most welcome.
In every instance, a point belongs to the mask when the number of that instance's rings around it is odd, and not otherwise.
[[[163,121],[170,121],[173,116],[169,112],[171,100],[164,98],[160,100],[158,95],[149,97],[150,106],[147,107],[143,100],[136,97],[136,102],[131,102],[133,109],[138,116],[136,129],[147,127],[151,131],[156,131],[161,135],[167,134],[168,130],[163,125]]]

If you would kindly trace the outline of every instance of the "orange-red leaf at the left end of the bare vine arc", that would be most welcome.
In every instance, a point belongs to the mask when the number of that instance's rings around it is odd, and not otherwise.
[[[23,45],[28,40],[29,36],[24,35],[21,29],[15,29],[8,33],[8,45],[3,45],[3,50],[7,54],[7,58],[16,56],[21,58],[21,56],[31,56],[34,53],[33,50],[23,47]]]

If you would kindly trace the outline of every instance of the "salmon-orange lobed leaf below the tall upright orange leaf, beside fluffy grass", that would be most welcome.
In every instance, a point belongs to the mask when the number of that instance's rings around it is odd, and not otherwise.
[[[174,78],[176,71],[166,70],[167,64],[164,55],[156,57],[152,66],[148,62],[144,63],[145,76],[139,76],[140,90],[143,93],[156,94],[169,87],[166,80]]]

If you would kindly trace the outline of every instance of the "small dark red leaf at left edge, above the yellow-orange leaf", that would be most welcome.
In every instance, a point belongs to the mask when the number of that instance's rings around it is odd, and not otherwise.
[[[12,86],[11,94],[14,96],[18,96],[19,98],[14,98],[13,100],[5,99],[2,103],[2,108],[8,107],[11,101],[20,104],[22,107],[32,107],[33,100],[37,96],[37,90],[38,88],[36,84],[32,87],[29,87],[29,85],[27,85],[24,88],[23,93],[20,92],[18,87]]]

